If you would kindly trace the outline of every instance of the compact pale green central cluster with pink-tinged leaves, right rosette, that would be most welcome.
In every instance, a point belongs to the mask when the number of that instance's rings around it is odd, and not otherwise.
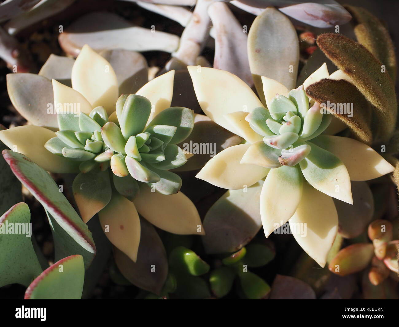
[[[259,145],[267,153],[265,160],[270,161],[263,166],[278,168],[280,165],[292,167],[302,161],[310,153],[305,141],[320,135],[330,124],[331,116],[321,113],[318,102],[309,108],[309,98],[301,85],[291,90],[288,98],[277,94],[269,110],[258,107],[245,120],[264,136],[263,142],[270,147]]]

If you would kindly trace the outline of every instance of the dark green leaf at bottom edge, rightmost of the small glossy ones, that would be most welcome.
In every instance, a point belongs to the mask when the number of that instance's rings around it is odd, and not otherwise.
[[[270,286],[258,275],[239,270],[241,289],[247,299],[265,299],[269,296]]]

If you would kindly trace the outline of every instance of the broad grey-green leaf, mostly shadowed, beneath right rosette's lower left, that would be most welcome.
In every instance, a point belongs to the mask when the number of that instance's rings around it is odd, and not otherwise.
[[[262,227],[259,197],[263,181],[243,190],[229,190],[207,211],[202,242],[207,253],[235,252],[245,246]]]

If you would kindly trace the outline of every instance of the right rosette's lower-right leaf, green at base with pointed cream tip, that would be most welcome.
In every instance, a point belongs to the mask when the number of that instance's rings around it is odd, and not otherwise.
[[[299,165],[303,176],[316,190],[353,204],[350,176],[344,163],[332,153],[308,142],[310,153]]]

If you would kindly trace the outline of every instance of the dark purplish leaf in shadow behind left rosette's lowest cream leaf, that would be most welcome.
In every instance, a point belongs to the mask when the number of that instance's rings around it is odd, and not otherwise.
[[[141,236],[136,262],[114,248],[115,262],[128,281],[159,295],[168,275],[166,251],[158,233],[150,223],[141,218],[140,226]]]

